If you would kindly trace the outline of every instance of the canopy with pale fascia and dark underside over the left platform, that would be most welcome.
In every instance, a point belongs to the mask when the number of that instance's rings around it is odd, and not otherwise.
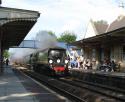
[[[3,49],[18,46],[39,16],[37,11],[0,7],[0,40]]]

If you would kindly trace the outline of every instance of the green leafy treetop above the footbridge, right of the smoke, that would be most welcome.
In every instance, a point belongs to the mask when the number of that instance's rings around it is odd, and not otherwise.
[[[77,36],[73,32],[65,31],[61,34],[61,36],[57,40],[66,43],[72,43],[76,41],[76,38]]]

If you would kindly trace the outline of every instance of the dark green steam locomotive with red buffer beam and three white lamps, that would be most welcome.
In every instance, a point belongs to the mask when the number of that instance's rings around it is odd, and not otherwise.
[[[47,48],[27,56],[29,64],[35,72],[46,75],[67,75],[68,59],[66,49],[60,47]]]

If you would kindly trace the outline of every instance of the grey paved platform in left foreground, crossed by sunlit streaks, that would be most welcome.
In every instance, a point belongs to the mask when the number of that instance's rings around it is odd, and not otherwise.
[[[63,96],[4,66],[0,75],[0,102],[69,102]]]

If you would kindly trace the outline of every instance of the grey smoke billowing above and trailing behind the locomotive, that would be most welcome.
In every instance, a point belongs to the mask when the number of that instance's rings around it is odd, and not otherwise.
[[[9,52],[11,54],[11,62],[23,62],[25,56],[35,53],[39,50],[44,50],[46,48],[54,47],[57,45],[56,37],[54,35],[48,34],[47,31],[40,31],[35,37],[36,48],[13,48]]]

